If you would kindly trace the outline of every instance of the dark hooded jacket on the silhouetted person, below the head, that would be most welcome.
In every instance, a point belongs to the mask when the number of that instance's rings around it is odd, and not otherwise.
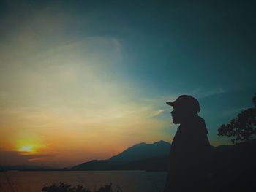
[[[211,153],[207,134],[206,123],[199,116],[178,127],[170,149],[165,191],[200,191],[206,187]]]

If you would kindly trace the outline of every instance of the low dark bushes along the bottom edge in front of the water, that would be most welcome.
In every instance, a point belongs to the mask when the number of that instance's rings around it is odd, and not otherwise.
[[[50,186],[45,186],[42,188],[45,192],[93,192],[88,188],[84,188],[82,185],[72,186],[67,183],[59,183],[59,185],[53,184]],[[103,185],[98,190],[94,192],[122,192],[121,188],[116,186],[116,190],[113,189],[112,183],[108,185]]]

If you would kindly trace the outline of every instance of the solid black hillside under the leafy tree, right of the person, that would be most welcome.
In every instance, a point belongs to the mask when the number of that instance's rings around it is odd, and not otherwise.
[[[256,183],[256,140],[212,149],[211,189],[251,191]]]

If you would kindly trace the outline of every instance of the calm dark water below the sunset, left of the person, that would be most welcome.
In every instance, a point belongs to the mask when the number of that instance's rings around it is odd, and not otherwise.
[[[97,171],[97,172],[0,172],[0,191],[12,192],[7,182],[10,178],[15,192],[37,192],[44,185],[69,183],[94,190],[113,183],[124,192],[159,192],[165,185],[166,172]]]

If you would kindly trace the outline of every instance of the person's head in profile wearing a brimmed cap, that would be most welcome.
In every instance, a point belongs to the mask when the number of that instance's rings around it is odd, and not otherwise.
[[[197,99],[188,95],[179,96],[174,102],[166,102],[173,107],[171,112],[173,123],[186,122],[189,118],[197,116],[200,112],[200,105]]]

